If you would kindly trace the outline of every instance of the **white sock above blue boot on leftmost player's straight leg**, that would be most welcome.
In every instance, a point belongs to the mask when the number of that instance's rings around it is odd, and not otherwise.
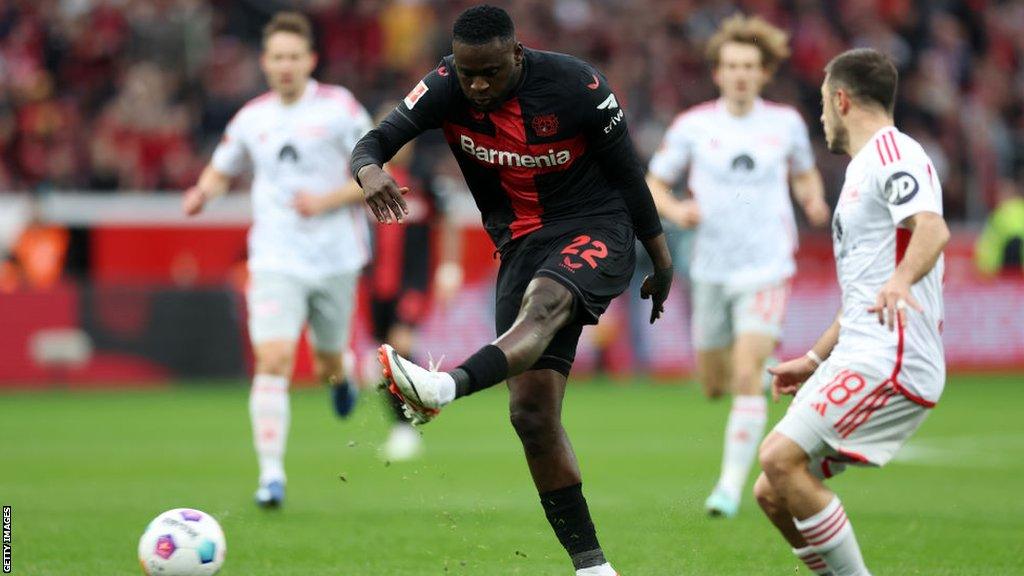
[[[292,418],[288,378],[256,374],[249,393],[249,417],[259,459],[259,483],[285,482],[285,445]]]

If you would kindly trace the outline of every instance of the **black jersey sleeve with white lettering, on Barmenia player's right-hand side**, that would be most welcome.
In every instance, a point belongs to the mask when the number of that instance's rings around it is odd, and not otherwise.
[[[585,66],[574,88],[586,102],[584,123],[591,150],[605,178],[623,195],[637,238],[647,240],[662,234],[654,199],[626,127],[626,113],[607,79],[596,69]]]

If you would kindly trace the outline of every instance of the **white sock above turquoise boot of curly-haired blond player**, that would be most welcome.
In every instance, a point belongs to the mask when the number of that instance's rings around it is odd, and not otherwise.
[[[725,424],[725,450],[718,488],[739,501],[746,476],[758,454],[768,422],[768,400],[764,396],[737,396]]]

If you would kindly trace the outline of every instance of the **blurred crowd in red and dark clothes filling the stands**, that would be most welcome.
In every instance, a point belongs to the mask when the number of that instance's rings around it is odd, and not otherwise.
[[[519,39],[607,74],[644,155],[686,107],[715,97],[702,45],[736,10],[792,34],[767,90],[819,142],[833,197],[845,159],[818,116],[822,68],[872,46],[902,74],[897,121],[935,160],[951,219],[980,220],[1024,172],[1024,1],[494,0]],[[183,190],[233,113],[265,88],[262,25],[301,9],[317,76],[371,111],[447,52],[471,2],[442,0],[0,0],[0,191]],[[1018,182],[1015,184],[1014,182]]]

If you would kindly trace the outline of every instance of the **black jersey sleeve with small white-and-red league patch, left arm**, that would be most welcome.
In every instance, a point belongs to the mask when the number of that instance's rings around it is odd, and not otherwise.
[[[431,128],[440,127],[452,94],[450,70],[442,60],[376,128],[356,142],[349,162],[356,179],[364,166],[383,166],[406,142]]]

